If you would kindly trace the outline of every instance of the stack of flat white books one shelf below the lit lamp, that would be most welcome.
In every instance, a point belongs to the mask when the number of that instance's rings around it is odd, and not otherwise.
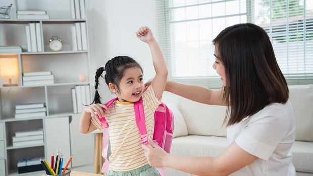
[[[36,118],[46,116],[44,103],[21,104],[15,106],[15,118]]]

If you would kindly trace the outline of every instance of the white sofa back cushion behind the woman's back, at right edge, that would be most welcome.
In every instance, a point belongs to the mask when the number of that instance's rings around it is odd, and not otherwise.
[[[289,86],[295,116],[296,141],[313,142],[313,85]]]

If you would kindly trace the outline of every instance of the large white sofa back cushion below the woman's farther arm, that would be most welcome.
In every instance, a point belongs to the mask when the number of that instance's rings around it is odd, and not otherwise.
[[[178,109],[182,113],[189,135],[226,136],[222,127],[226,107],[207,105],[178,97]]]

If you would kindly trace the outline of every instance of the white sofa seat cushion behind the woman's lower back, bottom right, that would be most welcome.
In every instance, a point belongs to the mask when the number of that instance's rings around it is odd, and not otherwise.
[[[291,152],[296,171],[313,173],[313,142],[295,141]]]

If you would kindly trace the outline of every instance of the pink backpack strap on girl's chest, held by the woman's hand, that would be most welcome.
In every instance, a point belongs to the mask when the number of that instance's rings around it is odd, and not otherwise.
[[[139,101],[134,103],[135,109],[135,116],[136,116],[136,124],[138,126],[140,135],[141,135],[141,142],[145,145],[148,144],[148,136],[147,136],[147,129],[145,126],[145,115],[143,110],[143,103],[142,98]]]

